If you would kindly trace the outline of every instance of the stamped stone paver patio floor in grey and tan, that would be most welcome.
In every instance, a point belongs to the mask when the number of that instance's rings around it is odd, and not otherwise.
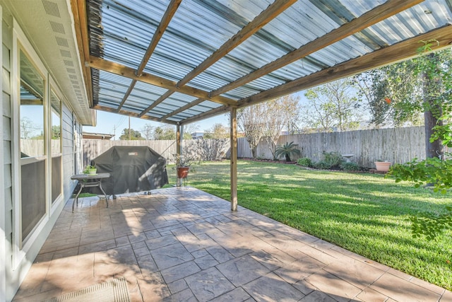
[[[14,301],[125,277],[131,301],[452,301],[452,293],[194,188],[66,204]]]

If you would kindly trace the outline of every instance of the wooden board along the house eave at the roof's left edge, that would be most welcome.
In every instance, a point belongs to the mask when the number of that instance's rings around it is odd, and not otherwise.
[[[91,81],[91,69],[85,66],[85,62],[90,57],[90,43],[88,35],[88,18],[86,16],[86,2],[84,0],[71,0],[71,10],[73,14],[74,29],[78,53],[80,54],[81,66],[83,67],[83,79],[85,80],[86,93],[90,107],[93,107],[93,86]]]

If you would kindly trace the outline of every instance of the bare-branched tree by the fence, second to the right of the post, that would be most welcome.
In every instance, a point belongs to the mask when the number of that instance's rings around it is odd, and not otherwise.
[[[294,112],[298,112],[299,97],[293,95],[285,95],[282,98],[269,100],[264,103],[264,129],[263,136],[268,142],[268,148],[273,156],[276,156],[276,144],[280,138],[281,132],[292,122]]]

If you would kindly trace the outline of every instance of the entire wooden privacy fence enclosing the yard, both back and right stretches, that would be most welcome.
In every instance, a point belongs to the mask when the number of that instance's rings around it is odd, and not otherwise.
[[[377,159],[391,163],[405,163],[412,158],[425,158],[424,127],[404,127],[390,129],[371,129],[349,132],[325,132],[281,136],[278,145],[295,142],[302,151],[299,157],[321,161],[322,152],[337,151],[341,154],[353,154],[351,161],[367,168],[374,168]],[[169,162],[176,153],[176,141],[109,141],[97,139],[83,140],[83,163],[87,165],[93,158],[112,146],[150,146]],[[228,139],[189,139],[184,140],[184,151],[196,153],[206,160],[229,157]],[[249,144],[244,138],[237,140],[239,158],[251,158]],[[265,139],[261,139],[257,148],[258,158],[271,159],[272,155]]]

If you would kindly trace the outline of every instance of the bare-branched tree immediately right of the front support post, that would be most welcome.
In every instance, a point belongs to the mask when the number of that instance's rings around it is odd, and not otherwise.
[[[262,103],[237,110],[237,126],[244,132],[253,158],[256,158],[257,145],[263,136],[265,112]]]

